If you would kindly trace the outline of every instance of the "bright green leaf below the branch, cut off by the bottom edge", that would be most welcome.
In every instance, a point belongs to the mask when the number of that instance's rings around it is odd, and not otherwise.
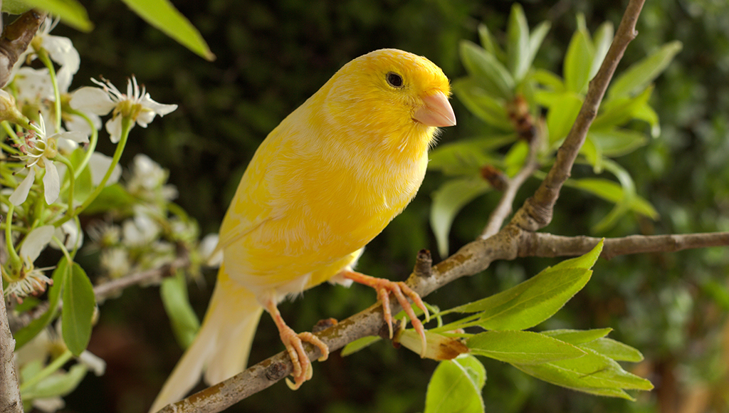
[[[486,369],[473,356],[440,362],[428,383],[424,413],[482,413],[485,382]]]

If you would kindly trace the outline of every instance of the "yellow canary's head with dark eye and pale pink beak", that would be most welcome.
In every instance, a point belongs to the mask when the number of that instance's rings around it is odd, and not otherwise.
[[[396,49],[350,61],[323,88],[325,116],[354,134],[373,132],[391,144],[456,125],[443,71],[428,59]]]

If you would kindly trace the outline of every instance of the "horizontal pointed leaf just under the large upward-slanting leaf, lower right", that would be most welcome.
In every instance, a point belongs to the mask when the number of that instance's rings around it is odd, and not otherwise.
[[[473,355],[516,364],[540,364],[578,358],[585,352],[572,344],[533,331],[484,331],[467,346]]]

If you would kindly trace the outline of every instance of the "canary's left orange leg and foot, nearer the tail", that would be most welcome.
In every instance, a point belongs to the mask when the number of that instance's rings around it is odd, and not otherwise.
[[[291,390],[297,390],[301,387],[303,382],[311,379],[313,374],[311,361],[309,361],[308,355],[306,355],[302,341],[307,341],[308,343],[319,347],[319,350],[321,350],[321,357],[319,358],[319,361],[327,360],[329,357],[329,347],[327,347],[327,344],[324,344],[319,337],[314,336],[312,333],[296,333],[293,331],[291,327],[286,325],[284,318],[281,317],[281,313],[278,312],[275,302],[269,301],[266,304],[266,310],[271,314],[271,317],[273,317],[273,323],[276,323],[278,334],[281,336],[281,341],[284,342],[286,351],[289,352],[291,363],[294,365],[294,372],[292,373],[294,382],[286,379],[286,385],[288,385]]]

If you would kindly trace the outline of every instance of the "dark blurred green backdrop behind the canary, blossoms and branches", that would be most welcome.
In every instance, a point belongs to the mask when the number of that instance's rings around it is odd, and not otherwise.
[[[100,74],[115,85],[135,74],[152,98],[179,109],[130,135],[122,166],[145,153],[170,171],[176,200],[217,232],[238,180],[266,134],[347,61],[382,47],[425,55],[451,79],[464,75],[458,42],[477,42],[486,23],[504,36],[511,1],[476,0],[211,0],[172,1],[200,30],[217,55],[204,61],[144,23],[120,1],[82,1],[95,23],[91,34],[65,26],[82,66],[73,88]],[[588,30],[620,21],[626,1],[526,1],[530,26],[550,20],[552,29],[536,64],[560,73],[560,64],[585,14]],[[562,235],[625,236],[729,230],[729,4],[725,0],[647,1],[620,68],[663,43],[678,39],[681,53],[658,78],[651,105],[661,134],[617,161],[631,172],[638,193],[660,213],[657,221],[628,216],[608,233],[590,227],[612,205],[565,188],[545,231]],[[620,70],[620,68],[618,70]],[[490,131],[453,101],[458,127],[441,142]],[[106,146],[104,146],[106,145]],[[101,151],[112,145],[100,140]],[[575,174],[587,173],[577,169]],[[431,193],[443,177],[426,177],[413,204],[367,247],[359,271],[404,279],[421,248],[436,251],[428,216]],[[538,182],[527,182],[520,204]],[[474,239],[486,224],[496,194],[478,198],[456,218],[451,252]],[[434,260],[439,260],[437,254]],[[537,274],[558,260],[497,262],[482,274],[438,290],[426,301],[448,308],[491,295]],[[656,389],[636,402],[574,393],[484,360],[490,412],[728,412],[729,255],[725,249],[646,254],[599,260],[592,280],[547,328],[612,327],[611,337],[641,350],[646,360],[628,366]],[[92,278],[95,274],[91,274]],[[190,285],[200,317],[214,272]],[[281,304],[284,319],[306,331],[325,317],[345,318],[375,301],[361,286],[322,285]],[[89,350],[108,363],[104,377],[89,375],[66,397],[64,412],[146,412],[182,355],[157,287],[133,287],[101,306]],[[250,361],[283,350],[269,317],[262,317]],[[314,377],[297,392],[274,385],[230,412],[419,412],[437,366],[385,342],[347,358],[335,354],[315,363]]]

